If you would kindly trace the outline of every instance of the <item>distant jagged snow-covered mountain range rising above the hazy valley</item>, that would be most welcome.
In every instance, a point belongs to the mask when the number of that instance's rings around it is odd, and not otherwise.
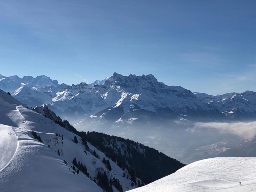
[[[112,122],[186,118],[199,120],[247,119],[256,116],[256,93],[207,95],[180,86],[167,86],[152,75],[114,73],[101,81],[77,85],[58,84],[49,77],[0,76],[0,88],[34,107],[48,104],[63,118],[81,117]],[[78,118],[79,117],[79,118]]]

